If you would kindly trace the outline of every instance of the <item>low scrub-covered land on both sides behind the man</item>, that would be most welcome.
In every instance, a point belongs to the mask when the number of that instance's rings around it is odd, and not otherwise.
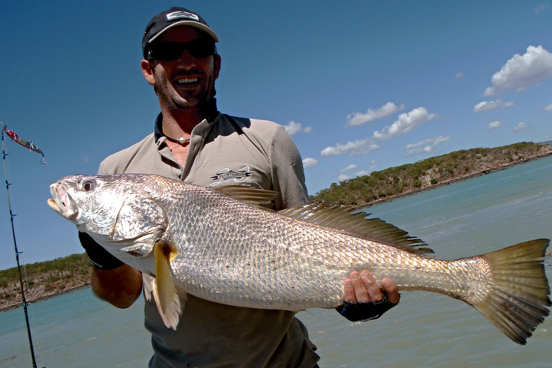
[[[451,184],[503,170],[517,164],[552,155],[552,142],[521,142],[495,148],[472,148],[430,157],[370,175],[333,183],[311,200],[366,207],[438,186]],[[27,302],[59,296],[90,286],[90,266],[86,253],[46,262],[26,264],[24,285]],[[26,278],[25,278],[26,275]],[[21,306],[17,267],[0,271],[0,311]]]

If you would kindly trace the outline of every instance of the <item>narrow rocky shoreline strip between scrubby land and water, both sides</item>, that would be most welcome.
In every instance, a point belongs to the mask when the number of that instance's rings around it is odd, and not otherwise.
[[[464,182],[466,180],[470,180],[470,179],[473,179],[475,177],[480,177],[480,176],[483,176],[483,175],[495,173],[497,171],[506,170],[507,168],[511,168],[513,166],[526,164],[528,162],[536,161],[538,159],[543,159],[543,158],[550,157],[550,156],[552,156],[552,152],[548,152],[548,153],[545,153],[543,155],[529,157],[527,159],[522,159],[522,160],[518,160],[518,161],[515,161],[515,162],[509,162],[508,164],[504,164],[502,166],[497,166],[495,168],[488,168],[488,169],[485,169],[485,170],[480,171],[478,173],[471,173],[470,175],[455,177],[453,179],[446,180],[444,182],[424,186],[422,188],[417,188],[415,190],[408,191],[406,193],[400,193],[398,195],[393,195],[391,197],[386,197],[386,198],[381,199],[381,200],[375,200],[375,201],[370,202],[368,204],[365,204],[363,206],[359,206],[358,209],[359,210],[368,209],[371,206],[377,206],[378,204],[383,204],[383,203],[386,203],[386,202],[393,202],[394,200],[399,200],[400,198],[409,197],[411,195],[416,195],[416,194],[423,193],[423,192],[426,192],[426,191],[431,191],[432,189],[440,188],[441,186],[447,186],[447,185],[455,184],[457,182]],[[29,305],[29,304],[32,304],[34,302],[41,302],[43,300],[48,300],[48,299],[51,299],[51,298],[55,298],[57,296],[62,296],[63,294],[72,293],[74,291],[79,291],[79,290],[82,290],[82,289],[86,289],[88,287],[91,287],[90,282],[85,283],[85,284],[75,285],[73,287],[68,287],[67,289],[63,289],[61,291],[55,291],[53,293],[48,293],[47,295],[37,296],[37,298],[33,298],[32,300],[28,300],[27,304]],[[29,292],[26,291],[26,298],[29,298],[28,294],[29,294]],[[31,294],[32,294],[32,292],[31,292]],[[8,304],[8,305],[0,307],[0,313],[5,312],[5,311],[10,311],[12,309],[17,309],[17,308],[23,307],[23,301],[22,300],[18,300],[17,303],[8,302],[6,304]]]

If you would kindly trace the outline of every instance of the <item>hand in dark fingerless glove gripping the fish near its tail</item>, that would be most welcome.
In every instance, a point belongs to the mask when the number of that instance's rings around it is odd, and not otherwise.
[[[400,299],[393,280],[384,278],[382,289],[374,276],[364,270],[354,271],[344,283],[344,304],[337,311],[351,321],[375,320],[395,307]]]

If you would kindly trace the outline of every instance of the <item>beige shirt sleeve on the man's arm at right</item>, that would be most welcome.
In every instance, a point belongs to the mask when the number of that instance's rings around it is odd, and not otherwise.
[[[281,193],[281,197],[276,199],[277,211],[308,202],[303,161],[283,126],[276,128],[268,156],[273,190]]]

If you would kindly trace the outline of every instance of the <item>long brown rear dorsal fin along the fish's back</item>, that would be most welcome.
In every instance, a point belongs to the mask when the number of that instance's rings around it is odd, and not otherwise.
[[[388,224],[379,218],[366,218],[364,212],[353,213],[355,209],[323,202],[308,202],[301,206],[279,211],[280,215],[308,221],[313,224],[344,231],[348,235],[373,242],[394,246],[411,253],[433,253],[427,244],[414,238],[404,230]]]

